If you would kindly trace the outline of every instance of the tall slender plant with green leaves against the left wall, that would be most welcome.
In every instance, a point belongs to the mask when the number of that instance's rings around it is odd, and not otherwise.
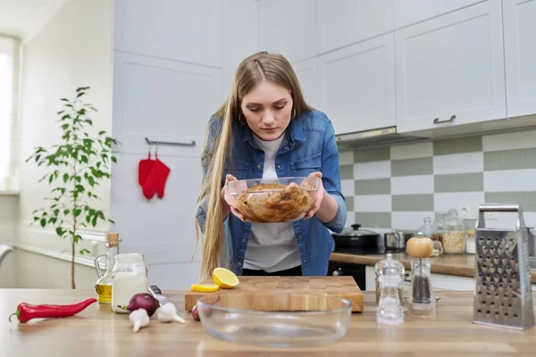
[[[82,98],[89,87],[76,89],[74,99],[60,99],[63,108],[57,112],[61,126],[61,140],[49,149],[37,147],[26,162],[33,160],[38,166],[46,167],[46,174],[39,182],[47,181],[51,187],[46,204],[33,212],[32,224],[41,228],[54,228],[58,237],[71,240],[71,288],[75,288],[74,259],[76,245],[81,241],[80,229],[96,227],[100,221],[113,223],[104,211],[94,208],[92,203],[100,200],[95,187],[111,179],[113,145],[118,141],[109,137],[105,130],[96,135],[89,112],[96,109]],[[89,130],[92,129],[92,130]],[[80,254],[89,253],[81,249]]]

